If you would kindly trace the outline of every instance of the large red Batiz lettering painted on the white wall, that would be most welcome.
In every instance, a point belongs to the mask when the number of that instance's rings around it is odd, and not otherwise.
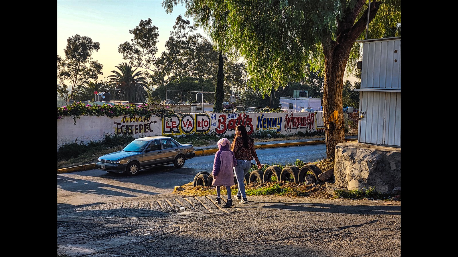
[[[244,125],[246,127],[247,134],[251,135],[254,131],[252,121],[253,119],[246,113],[219,114],[219,118],[215,126],[215,133],[223,135],[226,131],[235,130],[235,127],[238,125]]]

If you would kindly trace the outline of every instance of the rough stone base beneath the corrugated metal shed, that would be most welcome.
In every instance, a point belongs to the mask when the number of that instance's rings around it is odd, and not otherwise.
[[[401,187],[401,148],[348,141],[335,147],[334,185],[348,190],[375,187],[393,193]]]

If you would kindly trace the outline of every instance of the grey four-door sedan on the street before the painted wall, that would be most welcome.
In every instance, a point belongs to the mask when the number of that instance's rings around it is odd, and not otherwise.
[[[185,160],[195,155],[192,145],[180,144],[165,136],[144,137],[133,140],[123,150],[98,157],[95,166],[102,171],[134,176],[140,169],[153,166],[173,163],[181,168]]]

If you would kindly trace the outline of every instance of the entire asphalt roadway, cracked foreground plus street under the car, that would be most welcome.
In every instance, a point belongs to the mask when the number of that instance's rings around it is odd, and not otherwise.
[[[256,150],[267,164],[316,161],[324,158],[320,151],[326,156],[323,145]],[[400,201],[249,196],[248,203],[223,208],[224,194],[216,205],[215,196],[171,193],[212,163],[213,156],[198,156],[186,168],[158,167],[135,177],[57,174],[58,256],[401,256]]]

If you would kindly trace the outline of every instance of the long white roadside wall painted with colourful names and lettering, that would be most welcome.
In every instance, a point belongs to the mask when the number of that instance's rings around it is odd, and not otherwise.
[[[249,135],[269,131],[278,134],[296,134],[323,130],[322,112],[279,113],[189,113],[160,119],[120,116],[115,118],[82,116],[64,117],[57,121],[57,149],[71,142],[88,143],[102,140],[105,134],[132,134],[135,137],[194,133],[234,134],[235,127],[244,125]]]

